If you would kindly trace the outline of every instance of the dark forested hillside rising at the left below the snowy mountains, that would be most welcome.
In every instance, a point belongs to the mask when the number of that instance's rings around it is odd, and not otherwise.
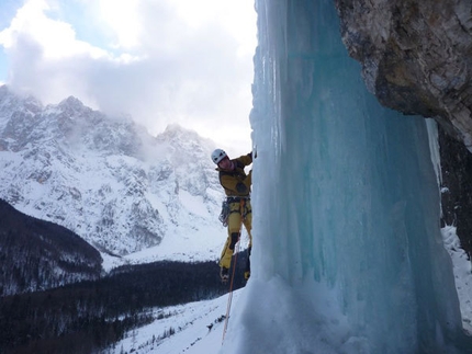
[[[76,233],[26,216],[1,198],[0,213],[0,297],[101,276],[99,251]]]

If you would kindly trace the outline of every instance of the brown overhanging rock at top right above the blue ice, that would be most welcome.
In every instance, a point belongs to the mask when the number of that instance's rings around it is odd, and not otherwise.
[[[434,117],[472,151],[472,2],[336,0],[342,41],[380,103]]]

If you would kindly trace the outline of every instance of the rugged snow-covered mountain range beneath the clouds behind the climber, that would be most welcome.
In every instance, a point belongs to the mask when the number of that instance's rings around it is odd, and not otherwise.
[[[135,262],[220,251],[213,148],[178,125],[153,137],[72,96],[43,106],[0,88],[0,197]]]

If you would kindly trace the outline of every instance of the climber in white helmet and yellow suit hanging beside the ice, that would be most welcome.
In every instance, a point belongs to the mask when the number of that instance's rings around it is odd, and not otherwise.
[[[228,237],[220,259],[220,276],[223,282],[226,282],[229,277],[232,256],[235,245],[239,241],[240,229],[244,224],[249,236],[247,262],[244,272],[245,278],[248,279],[250,276],[249,256],[252,248],[252,236],[250,233],[252,224],[250,207],[252,170],[246,174],[244,168],[252,163],[252,152],[231,160],[225,151],[216,149],[212,153],[212,160],[217,164],[216,171],[220,173],[220,183],[226,194],[226,201],[223,203],[220,219],[223,221],[223,225],[227,225]]]

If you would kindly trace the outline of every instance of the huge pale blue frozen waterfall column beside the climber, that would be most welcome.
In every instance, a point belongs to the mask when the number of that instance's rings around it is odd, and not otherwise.
[[[471,353],[426,121],[367,91],[334,1],[256,8],[252,277],[221,353]]]

